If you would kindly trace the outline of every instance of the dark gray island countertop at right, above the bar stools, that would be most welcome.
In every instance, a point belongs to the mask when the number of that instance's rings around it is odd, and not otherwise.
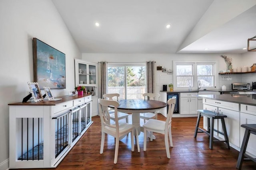
[[[195,96],[198,98],[214,99],[224,102],[233,102],[238,104],[248,104],[256,106],[256,94],[208,94]]]

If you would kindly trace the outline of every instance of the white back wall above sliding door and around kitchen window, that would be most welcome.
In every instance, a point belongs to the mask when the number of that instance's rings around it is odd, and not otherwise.
[[[87,61],[108,61],[108,62],[146,62],[146,61],[156,61],[155,66],[166,67],[167,69],[172,69],[172,61],[205,61],[212,60],[218,61],[217,70],[227,70],[228,65],[225,63],[224,58],[220,55],[226,55],[232,57],[234,67],[240,66],[241,55],[240,54],[92,54],[83,53],[82,59]],[[220,76],[219,76],[220,77]],[[240,81],[241,78],[234,78],[234,81]],[[220,80],[220,78],[219,78]],[[169,84],[173,82],[172,74],[167,74],[162,71],[156,70],[155,67],[155,81],[154,87],[155,92],[162,90],[163,84]],[[221,85],[232,82],[221,82],[216,90],[220,90]],[[229,85],[230,86],[230,85]],[[231,87],[231,86],[230,86]],[[195,88],[196,89],[196,88]],[[195,90],[194,89],[194,90]],[[193,90],[193,89],[192,89]]]

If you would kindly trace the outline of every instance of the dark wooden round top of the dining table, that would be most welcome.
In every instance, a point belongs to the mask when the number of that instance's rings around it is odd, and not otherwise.
[[[118,100],[118,102],[119,106],[117,108],[123,110],[152,110],[161,109],[167,106],[165,102],[158,100],[126,99]]]

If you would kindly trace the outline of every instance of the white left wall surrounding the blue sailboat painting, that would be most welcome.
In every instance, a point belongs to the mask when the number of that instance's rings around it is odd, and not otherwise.
[[[0,1],[0,170],[8,168],[9,103],[22,102],[33,81],[32,38],[66,54],[66,89],[74,90],[74,58],[82,57],[51,0]],[[43,92],[44,94],[44,92]]]

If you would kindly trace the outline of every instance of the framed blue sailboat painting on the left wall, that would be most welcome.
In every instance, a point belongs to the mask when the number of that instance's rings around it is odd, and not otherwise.
[[[34,82],[52,89],[66,88],[66,55],[33,38]]]

